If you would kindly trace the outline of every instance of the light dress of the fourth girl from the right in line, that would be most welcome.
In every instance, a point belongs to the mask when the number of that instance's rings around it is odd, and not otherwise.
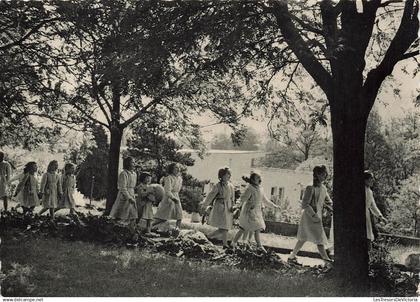
[[[213,206],[208,224],[218,229],[230,230],[233,225],[232,206],[235,202],[235,188],[231,183],[217,183],[206,196],[202,206]]]

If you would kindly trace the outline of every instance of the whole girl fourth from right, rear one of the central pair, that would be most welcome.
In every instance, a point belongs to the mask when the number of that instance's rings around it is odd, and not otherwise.
[[[235,203],[235,188],[229,182],[231,172],[229,168],[222,168],[218,172],[219,182],[213,186],[211,192],[201,203],[201,206],[210,211],[208,224],[217,228],[209,237],[222,234],[223,247],[228,248],[227,233],[233,225],[233,205]],[[211,210],[210,210],[211,207]]]

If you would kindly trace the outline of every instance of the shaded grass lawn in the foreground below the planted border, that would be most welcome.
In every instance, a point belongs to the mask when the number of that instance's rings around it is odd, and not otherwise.
[[[28,280],[23,296],[341,296],[331,277],[283,276],[183,260],[149,250],[53,238],[3,236],[2,271],[13,263]],[[31,284],[32,283],[32,284]],[[2,287],[4,290],[4,286]],[[4,294],[4,292],[3,292]]]

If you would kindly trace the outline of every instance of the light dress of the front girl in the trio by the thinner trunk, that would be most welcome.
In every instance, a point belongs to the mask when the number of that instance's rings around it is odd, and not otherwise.
[[[174,202],[172,198],[179,199],[179,191],[182,188],[182,178],[180,176],[168,175],[163,180],[165,197],[159,203],[155,218],[162,220],[181,220],[182,205],[180,202]]]

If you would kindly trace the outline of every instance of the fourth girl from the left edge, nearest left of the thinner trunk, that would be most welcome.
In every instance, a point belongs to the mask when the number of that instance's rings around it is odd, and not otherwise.
[[[58,208],[55,211],[61,209],[70,209],[70,214],[76,214],[74,210],[76,204],[74,201],[74,190],[76,189],[76,178],[74,177],[74,165],[67,163],[64,165],[64,172],[61,176],[61,185],[63,196],[58,202]]]

